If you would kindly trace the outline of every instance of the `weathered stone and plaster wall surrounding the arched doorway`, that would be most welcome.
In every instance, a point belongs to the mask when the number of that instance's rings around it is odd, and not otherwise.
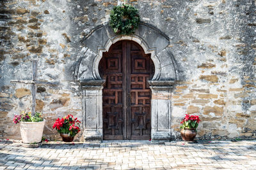
[[[0,138],[19,138],[15,113],[29,110],[31,60],[38,59],[36,110],[47,118],[45,135],[57,138],[55,118],[83,117],[74,69],[81,39],[108,22],[121,1],[3,0],[0,2]],[[180,118],[199,112],[199,138],[256,138],[256,2],[254,0],[130,0],[143,22],[170,38],[178,64],[173,89],[173,138]]]

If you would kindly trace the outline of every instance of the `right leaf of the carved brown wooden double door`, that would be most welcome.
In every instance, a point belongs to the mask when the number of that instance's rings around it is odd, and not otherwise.
[[[154,64],[150,59],[150,55],[145,55],[143,50],[135,43],[131,43],[130,59],[131,59],[131,74],[130,85],[127,83],[127,92],[129,103],[131,103],[129,113],[129,120],[131,121],[130,139],[150,139],[151,132],[151,90],[149,88],[148,80],[150,80],[154,73]]]

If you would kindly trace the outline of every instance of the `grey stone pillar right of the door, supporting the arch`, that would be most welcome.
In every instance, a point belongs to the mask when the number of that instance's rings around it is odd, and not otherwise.
[[[175,81],[148,81],[152,90],[151,139],[153,142],[170,141],[171,97]]]

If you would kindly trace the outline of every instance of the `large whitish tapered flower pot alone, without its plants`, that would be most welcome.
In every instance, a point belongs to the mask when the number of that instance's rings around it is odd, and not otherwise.
[[[42,122],[20,122],[22,143],[40,143],[42,141],[45,120]]]

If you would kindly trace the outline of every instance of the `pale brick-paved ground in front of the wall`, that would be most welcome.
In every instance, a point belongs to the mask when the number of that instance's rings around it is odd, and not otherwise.
[[[0,141],[0,169],[256,169],[256,141]]]

